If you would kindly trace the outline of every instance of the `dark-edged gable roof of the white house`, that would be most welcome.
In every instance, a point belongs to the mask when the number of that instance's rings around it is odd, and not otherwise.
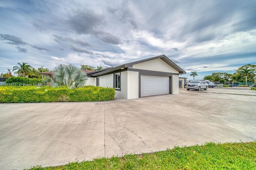
[[[186,74],[186,72],[182,68],[180,68],[177,64],[175,64],[168,57],[166,57],[166,55],[160,55],[160,56],[156,56],[156,57],[152,57],[152,58],[148,58],[148,59],[144,59],[144,60],[140,60],[140,61],[134,61],[132,63],[122,64],[120,66],[106,68],[104,70],[99,70],[97,72],[92,72],[92,73],[88,73],[88,74],[90,74],[90,76],[99,76],[101,74],[114,72],[114,71],[120,70],[121,68],[125,69],[128,67],[132,67],[134,64],[144,63],[146,61],[155,60],[155,59],[162,59],[165,63],[169,64],[172,68],[177,70],[179,72],[179,74]]]

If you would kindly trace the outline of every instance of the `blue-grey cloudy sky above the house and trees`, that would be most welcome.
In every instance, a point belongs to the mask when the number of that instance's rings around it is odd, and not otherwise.
[[[0,73],[166,55],[192,79],[256,64],[255,0],[1,0]]]

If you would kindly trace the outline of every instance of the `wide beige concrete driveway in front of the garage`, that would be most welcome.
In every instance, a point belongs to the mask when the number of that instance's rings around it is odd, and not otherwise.
[[[56,166],[209,141],[255,141],[256,91],[239,91],[180,89],[176,95],[135,100],[0,104],[0,169]]]

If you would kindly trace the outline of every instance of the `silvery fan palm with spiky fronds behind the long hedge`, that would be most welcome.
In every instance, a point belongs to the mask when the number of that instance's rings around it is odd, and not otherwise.
[[[74,65],[60,64],[53,69],[52,78],[45,76],[42,83],[50,83],[52,87],[65,85],[68,88],[78,88],[86,85],[88,80],[87,74]]]

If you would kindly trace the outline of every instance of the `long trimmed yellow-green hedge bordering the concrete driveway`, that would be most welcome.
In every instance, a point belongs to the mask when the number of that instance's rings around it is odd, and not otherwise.
[[[84,86],[68,89],[49,86],[0,86],[0,103],[93,102],[114,100],[114,88]]]

